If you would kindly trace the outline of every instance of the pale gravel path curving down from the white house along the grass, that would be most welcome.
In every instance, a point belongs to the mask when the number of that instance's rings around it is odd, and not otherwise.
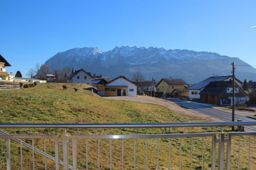
[[[209,122],[221,122],[221,120],[212,117],[212,116],[207,116],[201,113],[198,113],[196,111],[190,110],[190,109],[185,109],[182,108],[176,104],[174,104],[171,101],[166,101],[163,99],[155,98],[155,97],[149,97],[149,96],[137,96],[137,97],[105,97],[108,99],[114,99],[114,100],[124,100],[124,101],[133,101],[137,103],[150,103],[150,104],[155,104],[155,105],[161,105],[163,107],[166,107],[176,113],[179,113],[182,116],[188,117],[188,118],[193,118],[195,120],[203,120],[203,121],[209,121]]]

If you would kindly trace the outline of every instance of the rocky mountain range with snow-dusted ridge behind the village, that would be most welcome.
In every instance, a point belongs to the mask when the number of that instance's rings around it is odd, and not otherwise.
[[[256,69],[239,58],[186,49],[122,46],[103,52],[97,47],[73,48],[55,54],[45,64],[52,71],[68,66],[112,79],[119,75],[131,79],[140,72],[146,80],[172,77],[197,83],[215,75],[231,75],[232,62],[236,78],[256,80]]]

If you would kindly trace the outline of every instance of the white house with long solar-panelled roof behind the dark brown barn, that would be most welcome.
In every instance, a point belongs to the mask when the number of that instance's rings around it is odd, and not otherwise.
[[[209,77],[191,87],[188,88],[188,98],[190,100],[199,100],[200,92],[210,83],[214,81],[232,81],[232,75],[219,76],[219,77]],[[242,82],[238,79],[235,79],[236,83],[239,86],[242,86]]]

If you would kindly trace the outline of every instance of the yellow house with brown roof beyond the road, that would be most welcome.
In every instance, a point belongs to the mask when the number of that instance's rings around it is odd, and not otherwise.
[[[161,79],[156,84],[158,94],[171,97],[188,97],[188,83],[182,79]]]

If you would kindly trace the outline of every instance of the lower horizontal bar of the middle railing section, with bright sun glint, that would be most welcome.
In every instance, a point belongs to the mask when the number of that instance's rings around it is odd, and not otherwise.
[[[74,139],[149,139],[215,137],[216,133],[171,133],[171,134],[124,134],[124,135],[73,135]]]

